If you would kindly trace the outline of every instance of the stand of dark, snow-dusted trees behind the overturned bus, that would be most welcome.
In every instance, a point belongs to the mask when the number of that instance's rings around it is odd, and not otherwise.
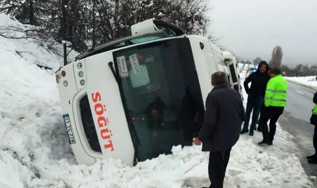
[[[0,13],[24,25],[0,27],[0,37],[25,39],[51,47],[63,44],[83,52],[130,35],[130,26],[147,19],[164,19],[186,34],[210,33],[208,0],[0,0]],[[66,64],[66,57],[64,58]]]

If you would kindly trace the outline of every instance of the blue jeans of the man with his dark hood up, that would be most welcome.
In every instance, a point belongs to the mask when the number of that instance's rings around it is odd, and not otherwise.
[[[246,108],[246,119],[244,122],[243,130],[249,130],[250,115],[253,110],[252,122],[250,126],[250,131],[253,131],[259,119],[262,103],[263,103],[262,97],[248,96],[248,102],[247,102],[247,108]]]

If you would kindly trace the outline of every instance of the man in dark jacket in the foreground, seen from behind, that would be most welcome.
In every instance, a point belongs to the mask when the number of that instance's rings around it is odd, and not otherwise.
[[[209,188],[223,188],[230,151],[239,140],[245,112],[240,94],[228,88],[225,72],[215,72],[211,83],[214,89],[207,96],[204,124],[194,144],[203,142],[202,151],[210,151]]]

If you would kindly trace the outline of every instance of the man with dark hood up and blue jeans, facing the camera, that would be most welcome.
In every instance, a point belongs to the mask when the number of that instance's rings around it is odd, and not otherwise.
[[[266,85],[270,80],[270,75],[268,74],[269,65],[266,61],[261,61],[259,63],[258,69],[256,72],[252,72],[247,79],[244,81],[244,87],[246,93],[248,94],[248,102],[246,108],[246,120],[244,122],[243,129],[241,134],[249,132],[249,120],[250,115],[252,114],[252,122],[250,126],[250,136],[253,136],[253,130],[256,129],[256,123],[259,119],[259,114],[261,111],[261,106],[263,104],[263,98],[265,95]],[[251,87],[249,88],[248,84],[251,82]],[[260,128],[259,128],[260,129]]]

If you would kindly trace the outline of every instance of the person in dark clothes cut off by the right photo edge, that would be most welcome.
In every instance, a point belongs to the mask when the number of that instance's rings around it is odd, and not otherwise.
[[[307,156],[308,163],[317,164],[317,92],[314,94],[313,102],[315,103],[314,109],[312,110],[312,117],[310,122],[312,125],[315,125],[314,136],[313,136],[313,145],[315,148],[315,154]]]

